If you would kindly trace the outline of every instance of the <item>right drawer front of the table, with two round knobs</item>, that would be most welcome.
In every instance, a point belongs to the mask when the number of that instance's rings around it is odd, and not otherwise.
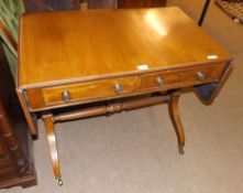
[[[224,67],[224,63],[219,63],[144,74],[140,89],[169,89],[214,82],[220,78]]]

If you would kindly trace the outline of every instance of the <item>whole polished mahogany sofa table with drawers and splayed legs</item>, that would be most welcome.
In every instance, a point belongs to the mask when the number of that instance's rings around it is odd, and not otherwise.
[[[18,95],[32,135],[44,120],[59,184],[55,122],[167,101],[183,153],[180,89],[212,101],[232,62],[178,8],[23,14],[19,36]]]

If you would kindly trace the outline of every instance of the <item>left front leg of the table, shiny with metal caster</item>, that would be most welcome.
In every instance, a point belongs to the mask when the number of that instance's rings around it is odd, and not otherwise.
[[[52,114],[44,115],[42,118],[45,125],[54,175],[57,180],[57,183],[59,185],[63,185],[59,161],[58,161],[58,153],[57,153],[56,135],[54,130],[53,115]]]

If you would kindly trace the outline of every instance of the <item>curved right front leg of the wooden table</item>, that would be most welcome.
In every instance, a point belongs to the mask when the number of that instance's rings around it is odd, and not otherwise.
[[[169,100],[169,115],[177,135],[179,153],[184,154],[183,148],[185,147],[185,132],[181,120],[179,118],[179,110],[178,110],[179,96],[180,96],[179,92],[174,92],[172,94]]]

